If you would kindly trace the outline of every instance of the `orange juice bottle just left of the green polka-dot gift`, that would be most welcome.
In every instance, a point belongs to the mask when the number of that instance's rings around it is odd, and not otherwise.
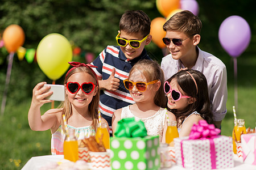
[[[100,124],[98,124],[98,129],[96,131],[96,136],[95,136],[95,139],[98,143],[102,141],[105,149],[110,148],[110,138],[109,138],[109,131],[107,127],[108,126],[106,123],[101,123],[101,126]]]

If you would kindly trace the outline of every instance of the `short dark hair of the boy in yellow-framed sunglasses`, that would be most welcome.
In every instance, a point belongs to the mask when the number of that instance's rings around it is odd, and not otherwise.
[[[119,22],[119,30],[127,33],[141,33],[146,37],[150,33],[151,20],[141,10],[126,11]]]

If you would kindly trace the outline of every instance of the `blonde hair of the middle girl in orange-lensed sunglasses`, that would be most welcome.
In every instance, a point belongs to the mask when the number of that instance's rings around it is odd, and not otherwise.
[[[163,84],[164,84],[164,73],[163,70],[160,68],[159,63],[150,59],[142,59],[138,61],[133,68],[131,68],[129,77],[133,73],[133,71],[139,70],[147,79],[147,82],[151,82],[154,80],[159,80],[161,82],[160,88],[156,91],[154,97],[154,103],[159,107],[165,108],[167,98],[164,94]]]

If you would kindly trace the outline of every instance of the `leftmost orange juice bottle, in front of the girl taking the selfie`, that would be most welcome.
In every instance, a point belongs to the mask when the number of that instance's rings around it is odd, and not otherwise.
[[[63,144],[63,152],[64,159],[68,159],[72,162],[76,162],[79,159],[78,143],[75,137],[74,129],[69,129],[69,135],[67,135]]]

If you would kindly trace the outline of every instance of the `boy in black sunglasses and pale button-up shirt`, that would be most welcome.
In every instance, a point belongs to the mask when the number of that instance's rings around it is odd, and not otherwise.
[[[197,45],[200,42],[201,20],[190,11],[177,12],[164,25],[164,44],[170,54],[163,57],[161,68],[167,80],[181,68],[198,70],[205,75],[212,104],[214,124],[221,127],[228,98],[226,66]]]

